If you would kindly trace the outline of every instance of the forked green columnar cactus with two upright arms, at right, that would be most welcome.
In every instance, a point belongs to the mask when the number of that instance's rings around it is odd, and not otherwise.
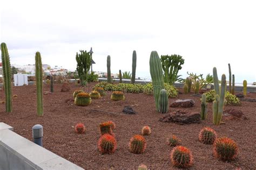
[[[216,91],[219,91],[219,81],[218,81],[217,69],[215,67],[213,68],[213,82],[214,82],[214,89],[215,89],[215,100],[213,102],[213,123],[215,125],[220,125],[220,121],[223,115],[224,101],[225,101],[226,76],[225,74],[221,76],[221,87],[220,87],[221,91],[220,93],[216,93]]]

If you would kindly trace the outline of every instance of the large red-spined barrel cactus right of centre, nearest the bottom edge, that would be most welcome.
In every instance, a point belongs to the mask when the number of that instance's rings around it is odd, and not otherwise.
[[[188,148],[176,146],[171,151],[171,162],[178,168],[188,168],[193,164],[193,157]]]

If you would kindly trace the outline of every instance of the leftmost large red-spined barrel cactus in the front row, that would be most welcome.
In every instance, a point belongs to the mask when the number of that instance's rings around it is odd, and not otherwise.
[[[104,153],[114,153],[117,148],[117,141],[116,139],[111,136],[110,134],[104,134],[99,138],[98,141],[98,148],[99,151],[104,154]]]

